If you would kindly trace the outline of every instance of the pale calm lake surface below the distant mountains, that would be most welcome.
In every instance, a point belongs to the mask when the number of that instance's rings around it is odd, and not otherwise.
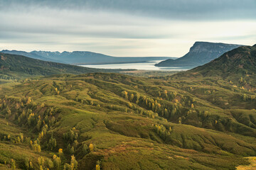
[[[81,65],[82,67],[90,67],[96,69],[145,69],[145,70],[156,70],[156,71],[182,71],[187,70],[183,67],[155,67],[154,64],[159,61],[151,62],[139,62],[139,63],[126,63],[126,64],[92,64],[92,65]]]

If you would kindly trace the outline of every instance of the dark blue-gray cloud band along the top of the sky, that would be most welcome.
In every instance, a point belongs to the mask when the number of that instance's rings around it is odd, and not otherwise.
[[[223,20],[256,16],[255,0],[2,0],[8,6],[103,10],[170,19]]]

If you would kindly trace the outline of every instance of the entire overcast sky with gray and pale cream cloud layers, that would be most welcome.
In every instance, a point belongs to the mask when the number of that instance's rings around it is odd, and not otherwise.
[[[256,44],[256,1],[0,0],[0,50],[182,57],[196,41]]]

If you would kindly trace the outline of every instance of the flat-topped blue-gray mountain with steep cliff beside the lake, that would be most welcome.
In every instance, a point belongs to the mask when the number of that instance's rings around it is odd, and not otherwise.
[[[188,67],[193,68],[220,57],[223,53],[233,50],[242,45],[195,42],[189,52],[176,60],[169,59],[155,64],[156,67]]]

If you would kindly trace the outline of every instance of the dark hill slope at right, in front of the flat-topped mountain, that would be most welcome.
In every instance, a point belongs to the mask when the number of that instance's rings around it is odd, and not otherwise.
[[[221,77],[223,79],[250,79],[255,82],[256,72],[256,45],[242,46],[229,52],[225,52],[217,59],[204,64],[203,66],[196,67],[181,72],[176,76],[181,77]],[[247,82],[249,83],[249,82]]]

